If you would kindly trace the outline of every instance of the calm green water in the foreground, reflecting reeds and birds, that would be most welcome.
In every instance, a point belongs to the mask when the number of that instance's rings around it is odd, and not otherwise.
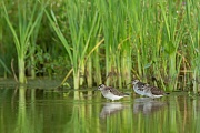
[[[1,88],[0,133],[200,132],[200,100],[187,93],[151,100],[132,92],[117,102],[91,89],[79,93]]]

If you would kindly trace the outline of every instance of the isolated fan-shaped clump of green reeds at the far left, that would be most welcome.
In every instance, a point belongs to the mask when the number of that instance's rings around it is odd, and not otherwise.
[[[19,82],[26,83],[26,58],[28,54],[28,49],[30,47],[30,37],[34,31],[38,22],[42,18],[42,8],[39,6],[38,1],[31,1],[32,3],[18,1],[18,22],[17,24],[10,19],[8,12],[8,7],[3,2],[3,16],[11,30],[13,41],[16,44],[16,50],[18,54],[18,69],[19,69]],[[29,6],[33,4],[33,10],[29,10]],[[10,4],[9,4],[10,6]],[[38,12],[37,12],[38,11]]]

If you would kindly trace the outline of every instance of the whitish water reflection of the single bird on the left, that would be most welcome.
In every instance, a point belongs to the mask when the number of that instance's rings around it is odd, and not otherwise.
[[[100,113],[100,117],[106,119],[107,116],[122,111],[126,106],[127,105],[122,104],[121,102],[104,103]]]

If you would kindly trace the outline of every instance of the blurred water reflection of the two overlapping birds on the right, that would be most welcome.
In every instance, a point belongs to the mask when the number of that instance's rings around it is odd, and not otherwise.
[[[156,101],[151,98],[139,98],[134,100],[133,112],[136,114],[140,112],[143,114],[150,114],[161,110],[166,105],[166,102]]]

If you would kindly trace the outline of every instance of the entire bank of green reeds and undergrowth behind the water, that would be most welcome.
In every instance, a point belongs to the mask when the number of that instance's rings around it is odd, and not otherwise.
[[[132,79],[156,79],[168,91],[193,86],[198,92],[198,1],[3,0],[0,4],[1,76],[12,76],[10,63],[16,57],[13,72],[21,83],[27,72],[32,78],[61,76],[62,83],[73,79],[74,89],[102,82],[123,88]]]

